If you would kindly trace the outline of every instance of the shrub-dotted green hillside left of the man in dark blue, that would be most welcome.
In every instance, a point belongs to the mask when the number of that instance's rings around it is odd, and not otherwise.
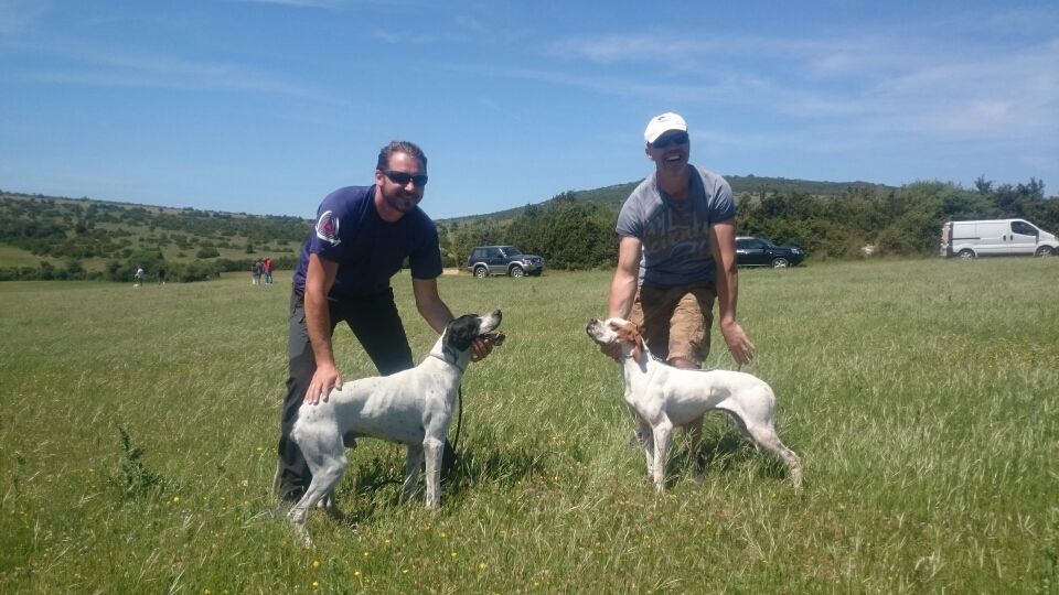
[[[265,256],[291,268],[311,229],[297,217],[0,193],[0,280],[126,277],[161,262],[170,278],[205,278]]]

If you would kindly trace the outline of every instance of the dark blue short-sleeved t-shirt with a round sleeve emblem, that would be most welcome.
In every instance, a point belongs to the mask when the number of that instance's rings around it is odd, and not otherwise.
[[[349,186],[329,194],[317,210],[317,225],[301,247],[293,285],[306,289],[309,255],[339,263],[332,298],[356,298],[386,290],[389,278],[408,258],[411,275],[441,274],[438,229],[416,207],[396,223],[384,221],[375,208],[375,186]]]

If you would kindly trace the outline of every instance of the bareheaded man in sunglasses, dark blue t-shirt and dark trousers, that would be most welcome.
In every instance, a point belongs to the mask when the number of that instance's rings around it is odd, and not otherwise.
[[[414,366],[411,348],[389,279],[405,259],[411,269],[416,309],[438,334],[452,312],[438,294],[441,252],[434,221],[419,208],[427,185],[427,158],[419,147],[394,141],[382,149],[375,184],[329,194],[315,229],[302,246],[290,300],[290,376],[279,441],[280,497],[297,502],[312,477],[290,430],[302,401],[317,403],[342,385],[331,336],[345,322],[381,375]],[[492,346],[479,339],[473,359]],[[447,458],[451,447],[446,442]]]

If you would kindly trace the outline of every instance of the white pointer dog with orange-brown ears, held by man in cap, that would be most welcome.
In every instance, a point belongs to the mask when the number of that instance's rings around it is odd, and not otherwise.
[[[682,370],[651,357],[637,325],[622,318],[592,318],[585,328],[600,345],[621,344],[625,404],[640,419],[637,435],[643,442],[648,474],[659,491],[665,488],[665,455],[673,426],[697,424],[707,411],[719,409],[758,445],[780,456],[795,487],[802,483],[802,462],[780,442],[772,425],[775,397],[762,380],[728,370]]]

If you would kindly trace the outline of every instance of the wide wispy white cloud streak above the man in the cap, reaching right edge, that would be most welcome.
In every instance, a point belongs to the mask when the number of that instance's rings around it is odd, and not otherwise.
[[[576,76],[507,74],[613,95],[748,107],[793,121],[838,120],[878,131],[953,138],[1059,132],[1059,37],[991,44],[880,34],[710,41],[602,35],[561,40],[546,53],[625,74],[593,77],[592,68]],[[677,68],[667,73],[674,63]],[[688,76],[698,65],[708,68]],[[644,68],[663,83],[644,85],[639,75]]]

